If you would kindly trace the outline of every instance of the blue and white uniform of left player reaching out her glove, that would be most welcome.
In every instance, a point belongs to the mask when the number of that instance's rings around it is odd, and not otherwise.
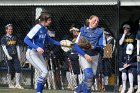
[[[48,73],[47,65],[42,54],[37,52],[37,48],[44,48],[45,41],[60,45],[59,42],[48,36],[47,28],[40,24],[36,24],[24,39],[24,42],[28,45],[26,58],[40,72],[40,77],[37,81],[37,93],[42,93],[43,81]]]

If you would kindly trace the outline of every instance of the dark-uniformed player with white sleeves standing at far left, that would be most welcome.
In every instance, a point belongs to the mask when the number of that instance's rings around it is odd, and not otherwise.
[[[6,35],[1,39],[2,49],[7,57],[6,64],[8,68],[7,81],[9,88],[20,88],[23,87],[20,85],[20,49],[17,42],[17,38],[13,35],[13,25],[8,24],[5,26]],[[15,73],[16,72],[16,73]],[[15,74],[16,77],[16,86],[12,84],[11,75]]]

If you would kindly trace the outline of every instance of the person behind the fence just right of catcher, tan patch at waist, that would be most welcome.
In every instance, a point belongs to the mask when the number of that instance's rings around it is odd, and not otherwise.
[[[108,79],[114,73],[113,51],[115,48],[115,40],[109,32],[104,31],[106,38],[106,46],[104,47],[103,55],[103,75],[104,85],[108,85]]]

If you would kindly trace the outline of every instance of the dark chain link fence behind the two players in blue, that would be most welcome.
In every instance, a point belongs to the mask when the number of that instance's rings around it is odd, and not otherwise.
[[[116,1],[117,2],[117,1]],[[24,88],[36,88],[35,83],[38,72],[27,62],[25,54],[27,47],[23,42],[24,37],[35,24],[37,15],[42,11],[48,11],[52,15],[53,23],[49,27],[55,36],[55,40],[71,38],[69,29],[75,26],[78,29],[85,25],[86,19],[91,15],[97,15],[100,19],[99,25],[113,37],[108,47],[100,58],[97,75],[97,89],[93,92],[113,92],[118,88],[118,63],[117,63],[117,37],[119,25],[119,4],[104,5],[56,5],[56,6],[1,6],[0,7],[0,38],[5,34],[5,26],[13,24],[14,34],[18,37],[21,51],[21,84]],[[83,77],[82,69],[80,74],[74,74],[72,63],[67,60],[66,53],[58,46],[46,44],[44,58],[48,64],[49,76],[46,81],[46,90],[73,90],[81,82]],[[109,51],[109,56],[108,52]],[[7,87],[6,56],[0,47],[0,85]],[[105,81],[106,80],[106,81]],[[17,92],[18,93],[18,92]]]

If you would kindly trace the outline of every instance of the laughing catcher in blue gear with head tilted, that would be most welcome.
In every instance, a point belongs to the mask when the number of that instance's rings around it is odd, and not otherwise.
[[[74,45],[75,50],[79,53],[80,65],[84,72],[84,80],[75,88],[75,93],[91,93],[91,86],[93,85],[98,66],[98,50],[102,49],[105,43],[103,29],[98,27],[99,18],[92,15],[88,21],[88,27],[82,27],[80,29],[81,32]],[[91,43],[93,47],[92,49],[87,51],[78,45],[78,40],[81,36],[86,37],[86,39]]]

